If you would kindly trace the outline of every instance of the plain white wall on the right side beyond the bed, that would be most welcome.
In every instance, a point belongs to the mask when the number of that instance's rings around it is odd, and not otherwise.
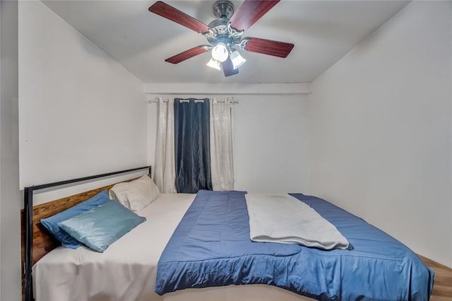
[[[312,84],[311,193],[452,267],[451,2],[413,1]]]

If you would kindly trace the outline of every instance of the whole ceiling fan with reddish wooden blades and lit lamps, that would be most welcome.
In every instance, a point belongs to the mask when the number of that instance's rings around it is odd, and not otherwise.
[[[165,61],[178,64],[198,54],[210,51],[212,57],[207,65],[218,70],[220,70],[221,65],[225,76],[232,76],[239,73],[239,66],[242,66],[246,61],[237,52],[237,48],[285,58],[294,47],[293,44],[286,42],[257,37],[242,37],[245,30],[256,23],[279,1],[244,0],[242,6],[234,13],[234,4],[231,1],[218,0],[213,4],[213,14],[216,19],[208,25],[162,1],[155,2],[149,7],[149,11],[204,35],[210,44],[188,49],[165,59]]]

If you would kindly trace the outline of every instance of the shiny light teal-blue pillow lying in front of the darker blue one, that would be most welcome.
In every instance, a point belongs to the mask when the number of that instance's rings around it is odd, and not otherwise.
[[[104,252],[110,244],[145,220],[117,201],[109,200],[58,225],[87,247]]]

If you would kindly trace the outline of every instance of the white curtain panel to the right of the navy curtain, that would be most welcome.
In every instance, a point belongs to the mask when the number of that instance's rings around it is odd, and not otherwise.
[[[231,119],[233,102],[233,98],[224,101],[210,99],[210,170],[213,190],[234,189]]]

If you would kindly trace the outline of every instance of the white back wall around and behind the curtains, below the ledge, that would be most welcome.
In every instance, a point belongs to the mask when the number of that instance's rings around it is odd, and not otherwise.
[[[209,95],[181,97],[203,98]],[[309,184],[307,95],[234,95],[234,98],[239,100],[232,109],[234,189],[249,192],[306,191]],[[156,103],[148,105],[148,147],[152,163],[157,108]]]

